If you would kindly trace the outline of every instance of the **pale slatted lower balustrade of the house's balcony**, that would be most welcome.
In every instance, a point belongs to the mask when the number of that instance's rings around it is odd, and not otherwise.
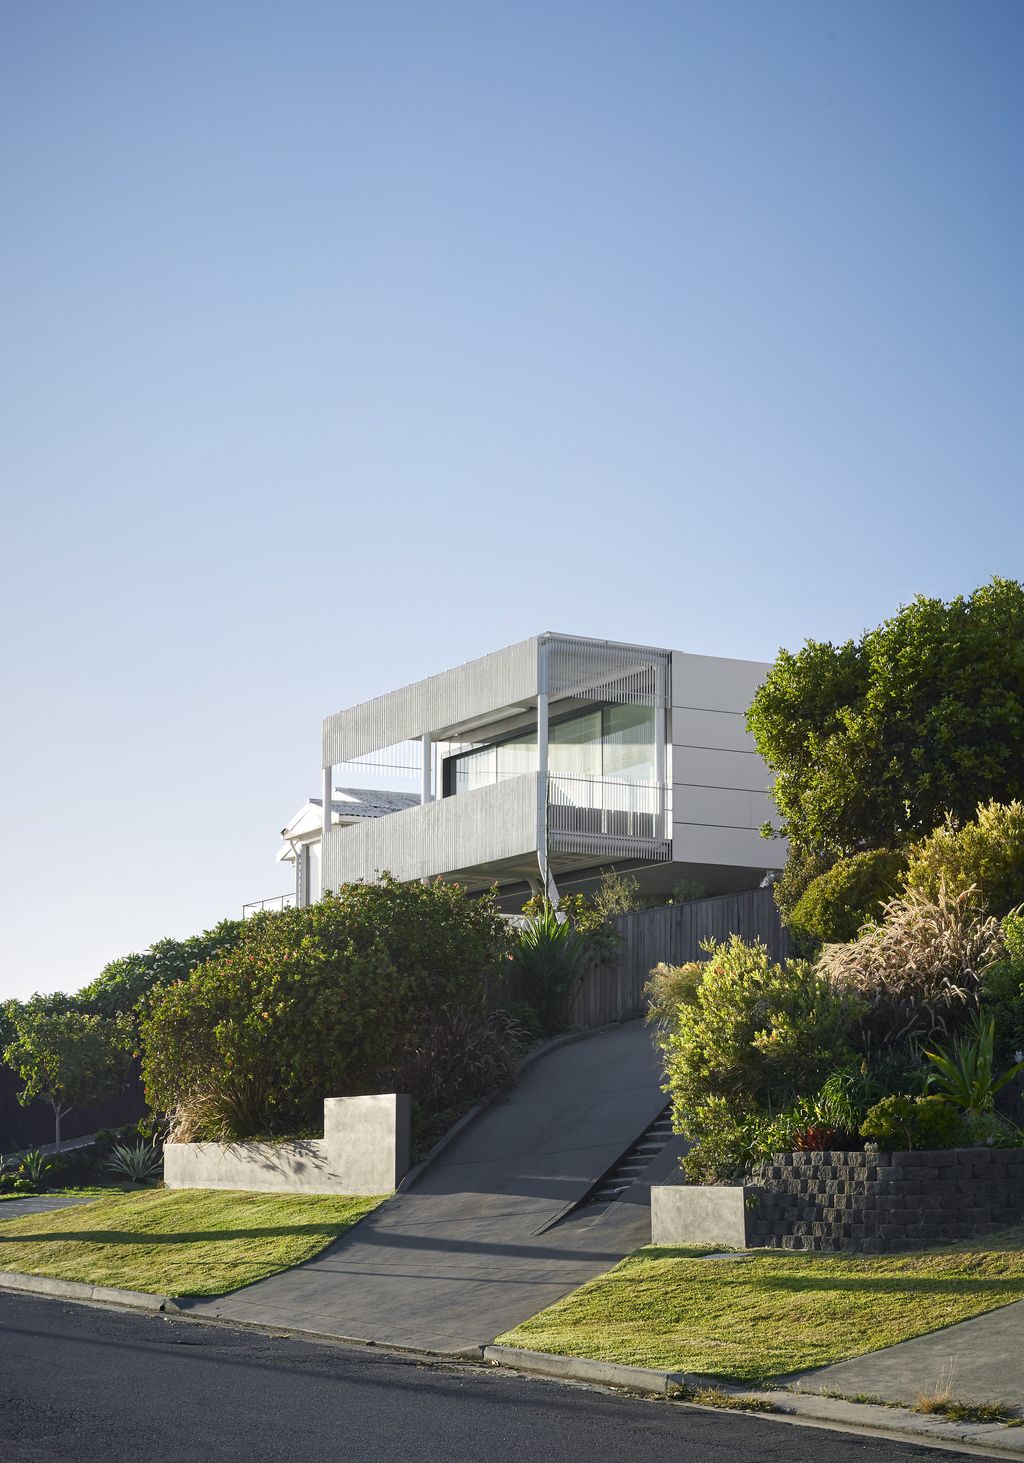
[[[588,777],[547,778],[551,868],[610,859],[671,856],[666,789]],[[473,791],[331,828],[323,849],[325,888],[374,879],[456,878],[471,887],[535,878],[540,774],[525,772]]]

